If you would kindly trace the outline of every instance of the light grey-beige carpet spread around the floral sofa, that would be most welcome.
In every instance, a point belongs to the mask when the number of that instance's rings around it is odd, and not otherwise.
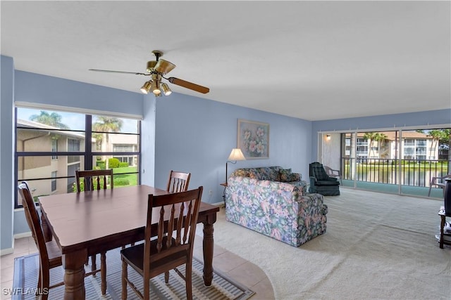
[[[440,249],[443,200],[341,189],[325,197],[327,231],[299,247],[226,221],[215,244],[259,266],[276,299],[451,299],[451,247]]]

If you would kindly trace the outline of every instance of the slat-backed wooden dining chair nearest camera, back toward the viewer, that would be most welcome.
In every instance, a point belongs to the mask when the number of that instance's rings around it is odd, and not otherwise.
[[[192,299],[192,250],[202,190],[201,186],[186,192],[149,195],[144,243],[121,250],[122,299],[127,299],[130,285],[141,299],[148,300],[151,278],[164,273],[167,284],[172,269],[185,280],[187,299]],[[157,226],[152,228],[154,222]],[[177,269],[183,264],[185,275]],[[142,276],[143,292],[128,278],[128,266]]]

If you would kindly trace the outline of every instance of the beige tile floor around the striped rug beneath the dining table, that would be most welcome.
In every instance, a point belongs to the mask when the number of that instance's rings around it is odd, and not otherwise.
[[[202,261],[202,237],[196,237],[194,256]],[[11,296],[4,294],[4,289],[13,287],[14,258],[27,254],[37,253],[37,247],[32,237],[23,237],[14,242],[15,252],[1,256],[1,300],[11,299]],[[219,270],[229,278],[239,282],[241,285],[252,289],[255,294],[252,300],[274,299],[274,292],[271,282],[266,274],[254,263],[250,263],[240,256],[228,252],[226,249],[215,245],[213,265],[215,270]]]

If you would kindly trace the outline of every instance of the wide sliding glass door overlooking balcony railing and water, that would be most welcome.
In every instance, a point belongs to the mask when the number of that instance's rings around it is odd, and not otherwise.
[[[340,167],[343,185],[383,193],[428,196],[431,179],[450,174],[450,129],[322,133],[323,164]],[[340,162],[333,153],[340,149]],[[332,154],[332,155],[330,155]],[[431,197],[443,190],[431,188]]]

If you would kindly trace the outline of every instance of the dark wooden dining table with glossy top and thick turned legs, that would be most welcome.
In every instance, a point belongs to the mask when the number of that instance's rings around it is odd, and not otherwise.
[[[46,240],[54,238],[63,255],[64,299],[85,299],[87,257],[144,240],[149,194],[168,192],[148,185],[39,196]],[[204,284],[213,280],[213,224],[219,207],[202,202]],[[158,218],[156,218],[158,220]]]

